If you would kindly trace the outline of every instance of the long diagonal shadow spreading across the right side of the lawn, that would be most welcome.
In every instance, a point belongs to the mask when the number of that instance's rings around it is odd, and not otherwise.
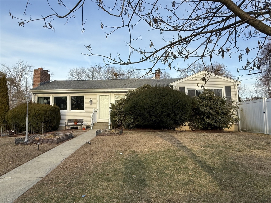
[[[267,186],[268,175],[261,175],[251,165],[244,165],[236,154],[228,152],[223,145],[210,146],[215,155],[212,156],[210,153],[202,158],[174,135],[157,136],[184,152],[188,158],[208,173],[216,181],[222,194],[227,194],[228,197],[233,195],[235,200],[239,199],[241,202],[258,202],[259,200],[268,202],[271,200]],[[258,159],[259,162],[264,162],[261,158]]]

